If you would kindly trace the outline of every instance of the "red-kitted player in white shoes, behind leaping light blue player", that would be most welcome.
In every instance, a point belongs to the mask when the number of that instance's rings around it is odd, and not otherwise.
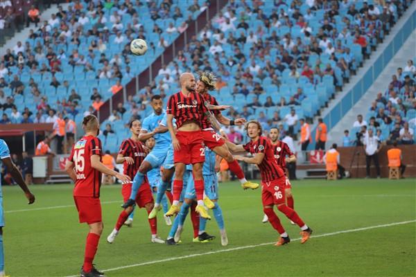
[[[116,163],[123,163],[123,172],[125,175],[128,175],[131,179],[134,179],[136,176],[137,170],[141,163],[146,157],[146,149],[144,144],[139,141],[139,134],[141,130],[141,123],[139,120],[132,120],[130,122],[130,132],[132,136],[130,139],[125,139],[120,146],[119,154],[117,155]],[[123,183],[123,188],[121,188],[121,195],[123,195],[123,200],[126,202],[130,198],[132,192],[132,182],[128,181]],[[146,211],[150,213],[154,206],[153,194],[150,189],[148,179],[145,175],[144,180],[137,192],[136,204],[139,208],[146,208]],[[107,236],[107,242],[114,242],[116,235],[119,234],[121,226],[123,226],[125,220],[128,219],[130,213],[132,213],[134,206],[128,206],[124,209],[119,215],[119,219],[114,226],[113,231],[110,235]],[[157,218],[153,217],[148,219],[150,225],[150,232],[152,233],[151,242],[164,243],[164,240],[157,236]]]

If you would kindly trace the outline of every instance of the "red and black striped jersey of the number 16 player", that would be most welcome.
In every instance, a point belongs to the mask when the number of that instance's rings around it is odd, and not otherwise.
[[[261,181],[268,182],[284,176],[283,170],[277,165],[272,143],[264,136],[257,141],[250,141],[243,145],[245,151],[251,154],[264,153],[263,161],[259,164]]]

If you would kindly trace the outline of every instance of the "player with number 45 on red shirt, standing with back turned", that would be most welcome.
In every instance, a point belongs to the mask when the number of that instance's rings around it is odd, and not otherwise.
[[[87,222],[89,226],[84,265],[81,268],[80,276],[99,277],[105,275],[95,269],[92,262],[103,232],[100,202],[101,173],[114,176],[123,182],[130,181],[130,177],[110,170],[101,162],[103,152],[101,141],[96,137],[99,132],[96,116],[85,116],[83,129],[85,136],[73,145],[65,170],[75,182],[73,199],[78,209],[80,223]]]

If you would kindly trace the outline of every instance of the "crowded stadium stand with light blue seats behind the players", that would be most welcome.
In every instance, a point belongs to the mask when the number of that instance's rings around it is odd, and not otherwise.
[[[207,1],[178,1],[76,1],[66,11],[60,8],[1,57],[3,114],[10,118],[16,105],[21,114],[27,107],[31,120],[38,110],[46,119],[54,109],[79,124],[85,114],[121,93],[118,80],[124,87],[143,72],[208,6]],[[283,123],[282,132],[287,132],[282,119],[291,109],[312,120],[408,7],[408,1],[367,3],[229,1],[150,84],[114,105],[113,117],[102,122],[103,130],[108,123],[114,131],[114,136],[101,135],[105,150],[115,152],[126,135],[125,124],[150,112],[151,95],[179,90],[183,71],[216,72],[214,96],[234,107],[227,113],[261,116],[266,130]],[[150,16],[138,16],[144,14]],[[148,42],[144,57],[130,54],[128,43],[135,37]],[[295,134],[299,129],[297,123]]]

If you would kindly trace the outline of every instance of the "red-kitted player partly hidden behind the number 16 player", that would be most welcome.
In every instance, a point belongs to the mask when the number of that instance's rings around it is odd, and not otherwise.
[[[283,141],[279,141],[279,129],[273,127],[270,129],[270,141],[272,141],[272,147],[275,152],[275,159],[277,164],[281,167],[284,174],[286,175],[286,163],[293,163],[296,161],[296,156],[293,154],[289,146]],[[289,208],[294,209],[295,201],[292,195],[292,185],[286,175],[286,183],[284,188],[284,194],[286,195],[286,204]],[[267,215],[263,217],[263,223],[268,222]],[[295,225],[295,222],[291,221],[291,224]]]

